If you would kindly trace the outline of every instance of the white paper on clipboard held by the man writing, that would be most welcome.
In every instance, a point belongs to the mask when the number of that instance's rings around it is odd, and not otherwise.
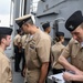
[[[55,75],[50,75],[48,76],[50,80],[55,81],[58,83],[65,83],[64,79],[63,79],[63,73],[59,73]]]

